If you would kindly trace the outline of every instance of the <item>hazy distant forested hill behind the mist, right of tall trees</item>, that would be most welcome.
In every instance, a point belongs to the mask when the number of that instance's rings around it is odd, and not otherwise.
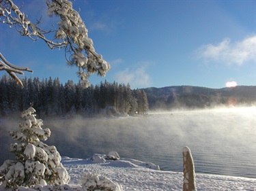
[[[150,109],[205,108],[218,105],[251,106],[256,103],[256,86],[219,89],[199,86],[168,86],[143,90],[147,94]]]

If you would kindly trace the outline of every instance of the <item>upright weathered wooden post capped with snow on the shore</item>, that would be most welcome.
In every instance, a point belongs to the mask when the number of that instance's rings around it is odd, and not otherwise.
[[[183,153],[183,191],[196,191],[195,166],[192,154],[188,147],[184,147]]]

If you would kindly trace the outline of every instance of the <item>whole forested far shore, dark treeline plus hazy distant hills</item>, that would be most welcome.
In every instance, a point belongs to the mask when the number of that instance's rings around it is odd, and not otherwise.
[[[8,75],[0,77],[0,116],[19,115],[34,107],[41,118],[59,116],[126,116],[145,114],[149,109],[208,108],[255,105],[255,86],[211,89],[170,86],[131,90],[129,84],[101,82],[84,88],[80,82],[58,78],[23,80],[23,88]]]

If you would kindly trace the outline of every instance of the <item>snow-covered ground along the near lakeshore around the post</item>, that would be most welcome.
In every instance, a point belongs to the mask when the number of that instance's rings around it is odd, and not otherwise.
[[[96,161],[79,158],[63,157],[61,160],[71,179],[68,186],[60,190],[83,190],[81,178],[87,172],[98,173],[122,186],[123,190],[182,190],[182,172],[159,171],[158,166],[121,158],[120,160]],[[195,169],[197,169],[195,167]],[[246,177],[231,177],[223,175],[196,175],[197,190],[256,190],[256,179]],[[1,189],[1,188],[0,188]],[[51,188],[53,189],[53,188]],[[20,191],[30,191],[31,188],[19,188]],[[48,190],[38,188],[38,190]]]

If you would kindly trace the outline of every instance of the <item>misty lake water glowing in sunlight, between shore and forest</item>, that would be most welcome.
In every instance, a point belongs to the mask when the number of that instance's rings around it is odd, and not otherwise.
[[[1,126],[10,124],[0,123]],[[13,125],[13,124],[12,124]],[[48,120],[46,141],[61,156],[89,158],[116,151],[121,158],[153,162],[182,171],[182,148],[190,147],[196,173],[256,178],[256,108],[154,112],[145,117]],[[0,162],[10,158],[1,128]],[[6,135],[5,135],[6,134]]]

